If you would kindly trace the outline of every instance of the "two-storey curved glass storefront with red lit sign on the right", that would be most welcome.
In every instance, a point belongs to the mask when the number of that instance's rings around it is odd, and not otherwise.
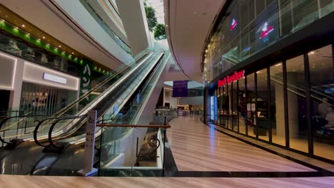
[[[334,1],[256,3],[233,1],[211,34],[205,120],[334,162]]]

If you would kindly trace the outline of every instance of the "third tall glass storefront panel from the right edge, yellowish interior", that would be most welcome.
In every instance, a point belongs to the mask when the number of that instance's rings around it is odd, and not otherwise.
[[[273,143],[285,146],[283,64],[270,66],[270,124]]]

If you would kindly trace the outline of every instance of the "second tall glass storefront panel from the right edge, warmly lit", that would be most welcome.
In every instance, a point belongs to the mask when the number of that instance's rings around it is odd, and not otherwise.
[[[304,56],[286,61],[290,148],[308,152]]]

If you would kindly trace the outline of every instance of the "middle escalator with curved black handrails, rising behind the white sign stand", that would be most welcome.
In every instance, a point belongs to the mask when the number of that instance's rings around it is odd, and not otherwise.
[[[118,113],[118,110],[131,98],[131,95],[133,95],[136,89],[141,85],[141,82],[143,82],[156,67],[162,57],[162,52],[153,53],[152,57],[143,63],[142,66],[136,68],[131,75],[126,75],[118,80],[106,93],[103,93],[100,98],[88,103],[87,108],[79,110],[79,113],[76,114],[76,117],[79,118],[64,117],[52,123],[48,132],[49,145],[47,145],[44,151],[62,153],[69,145],[78,145],[79,143],[85,142],[86,117],[84,117],[84,115],[88,113],[88,110],[96,110],[98,119],[101,119],[103,115],[108,114],[113,116],[113,114]],[[36,135],[35,142],[37,144],[45,139],[44,135],[39,136],[39,127],[34,131]],[[100,133],[99,129],[97,129],[96,136]]]

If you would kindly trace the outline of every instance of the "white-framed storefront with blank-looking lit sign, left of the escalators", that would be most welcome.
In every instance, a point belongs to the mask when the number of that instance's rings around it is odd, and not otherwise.
[[[79,97],[80,78],[0,52],[1,115],[44,115]],[[10,111],[8,111],[10,110]]]

